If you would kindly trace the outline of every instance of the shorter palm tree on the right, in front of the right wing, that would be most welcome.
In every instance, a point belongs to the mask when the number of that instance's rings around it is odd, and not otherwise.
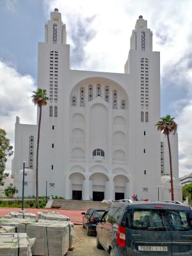
[[[170,156],[170,178],[171,178],[171,192],[172,192],[172,201],[174,201],[174,192],[173,192],[173,170],[172,170],[172,152],[170,147],[170,133],[175,134],[177,131],[177,124],[174,122],[174,117],[170,115],[163,116],[157,122],[157,131],[161,131],[165,134],[168,142],[169,156]]]

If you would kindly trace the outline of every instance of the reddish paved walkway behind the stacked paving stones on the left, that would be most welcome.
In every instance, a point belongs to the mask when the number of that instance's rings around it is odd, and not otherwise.
[[[8,212],[17,212],[20,211],[20,208],[4,208],[4,207],[0,207],[0,218],[4,216],[4,214],[8,214]],[[28,209],[24,209],[26,212],[40,212],[40,211],[50,211],[50,212],[54,212],[52,209],[33,209],[33,208],[28,208]],[[70,221],[72,221],[73,223],[78,223],[78,224],[82,224],[82,215],[80,210],[76,210],[76,211],[70,211],[70,210],[60,210],[60,209],[56,209],[57,212],[60,212],[61,214],[64,214],[65,216],[68,216],[70,218]]]

